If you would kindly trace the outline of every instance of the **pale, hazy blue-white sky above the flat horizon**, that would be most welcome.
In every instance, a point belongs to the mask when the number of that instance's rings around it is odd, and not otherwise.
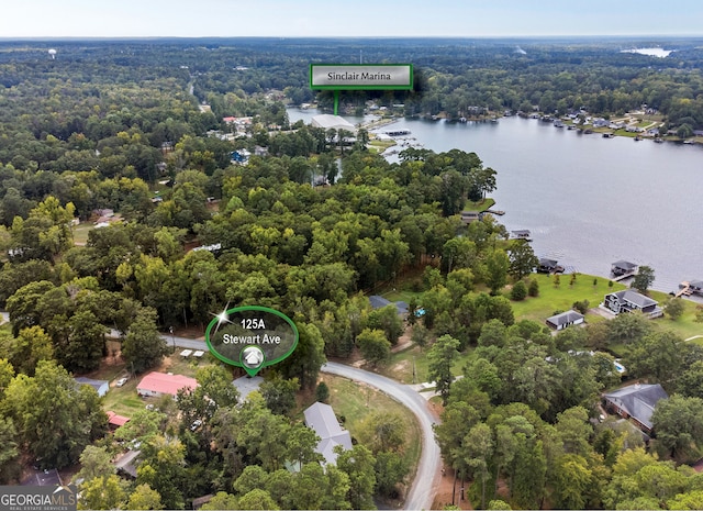
[[[703,35],[703,1],[2,0],[0,38]]]

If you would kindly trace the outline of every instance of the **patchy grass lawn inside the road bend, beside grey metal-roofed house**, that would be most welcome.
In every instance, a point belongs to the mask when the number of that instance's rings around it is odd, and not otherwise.
[[[361,421],[373,411],[398,413],[408,425],[405,458],[416,467],[422,451],[422,430],[410,410],[372,387],[332,375],[322,379],[330,387],[330,406],[337,416],[344,416],[344,427],[356,436]]]

